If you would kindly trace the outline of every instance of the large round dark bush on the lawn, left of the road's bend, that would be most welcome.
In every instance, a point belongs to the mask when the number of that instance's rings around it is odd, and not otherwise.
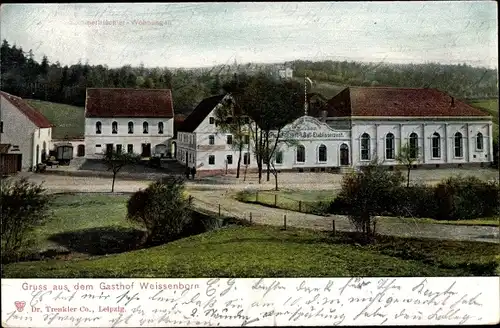
[[[127,203],[127,217],[146,228],[148,245],[179,237],[191,222],[183,179],[164,178],[133,194]]]

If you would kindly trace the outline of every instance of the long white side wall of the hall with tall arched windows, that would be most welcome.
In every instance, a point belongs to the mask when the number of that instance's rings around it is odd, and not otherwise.
[[[491,162],[492,132],[491,121],[487,120],[418,120],[418,121],[354,121],[352,128],[352,150],[354,165],[362,165],[370,161],[361,160],[360,138],[363,133],[370,135],[371,159],[377,156],[385,165],[396,165],[396,160],[385,158],[385,137],[391,132],[395,136],[395,153],[399,152],[401,144],[409,141],[411,133],[418,135],[419,164],[460,164]],[[441,156],[432,156],[432,135],[437,132],[440,136]],[[454,136],[460,132],[463,137],[463,156],[455,156]],[[476,149],[476,136],[483,134],[483,149]]]

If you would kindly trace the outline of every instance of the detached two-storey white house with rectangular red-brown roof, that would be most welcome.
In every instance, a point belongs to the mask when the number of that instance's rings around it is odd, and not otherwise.
[[[85,157],[106,150],[170,155],[174,134],[172,93],[167,89],[89,88],[85,102]]]

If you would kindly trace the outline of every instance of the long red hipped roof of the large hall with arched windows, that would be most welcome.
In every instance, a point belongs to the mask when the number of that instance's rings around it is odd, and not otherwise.
[[[328,101],[329,117],[489,116],[437,89],[349,87]]]

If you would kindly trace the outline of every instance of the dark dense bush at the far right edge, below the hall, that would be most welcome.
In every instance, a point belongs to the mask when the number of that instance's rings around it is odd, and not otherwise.
[[[438,220],[468,220],[499,214],[498,183],[476,177],[451,177],[435,188]]]

